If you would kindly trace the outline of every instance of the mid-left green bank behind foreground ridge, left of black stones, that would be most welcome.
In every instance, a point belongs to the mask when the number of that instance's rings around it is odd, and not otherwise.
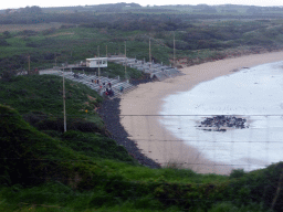
[[[22,115],[33,114],[44,118],[63,117],[62,77],[52,75],[18,76],[0,84],[0,100]],[[96,92],[85,85],[65,81],[66,114],[85,118],[103,127],[95,109],[102,102]],[[87,109],[87,114],[85,110]]]

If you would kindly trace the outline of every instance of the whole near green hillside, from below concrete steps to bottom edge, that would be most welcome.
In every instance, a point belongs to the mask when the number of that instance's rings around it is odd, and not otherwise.
[[[282,163],[230,177],[143,167],[107,137],[102,99],[83,85],[66,82],[66,103],[85,127],[62,131],[61,84],[1,81],[1,211],[282,211]]]

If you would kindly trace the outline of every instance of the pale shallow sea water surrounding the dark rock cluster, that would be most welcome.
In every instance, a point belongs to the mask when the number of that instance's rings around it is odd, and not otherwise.
[[[189,83],[189,82],[188,82]],[[165,98],[161,124],[214,162],[247,171],[283,161],[283,61],[243,68]],[[233,115],[245,128],[207,131],[206,117]]]

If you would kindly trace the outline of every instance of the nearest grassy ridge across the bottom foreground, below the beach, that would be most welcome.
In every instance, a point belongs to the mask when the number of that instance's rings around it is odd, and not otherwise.
[[[97,141],[95,137],[69,131],[62,142],[31,127],[12,108],[0,106],[0,114],[4,211],[266,211],[275,189],[263,191],[263,197],[271,192],[266,205],[259,191],[264,183],[275,186],[279,178],[277,166],[234,174],[235,180],[190,170],[153,170],[135,165],[125,150],[119,161],[115,153],[122,153],[122,147],[113,149],[113,159],[104,159],[85,148],[87,140]],[[107,139],[104,144],[107,148],[99,151],[111,152]]]

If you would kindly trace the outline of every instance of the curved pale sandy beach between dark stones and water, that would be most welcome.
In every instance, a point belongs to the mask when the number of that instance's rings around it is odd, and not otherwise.
[[[245,55],[186,67],[180,70],[185,74],[182,76],[140,84],[135,91],[123,95],[120,124],[142,152],[163,167],[169,165],[189,168],[200,173],[228,174],[232,169],[229,165],[206,159],[197,149],[177,139],[161,126],[159,119],[163,117],[159,116],[159,112],[164,104],[163,99],[243,67],[277,61],[283,61],[283,52]]]

